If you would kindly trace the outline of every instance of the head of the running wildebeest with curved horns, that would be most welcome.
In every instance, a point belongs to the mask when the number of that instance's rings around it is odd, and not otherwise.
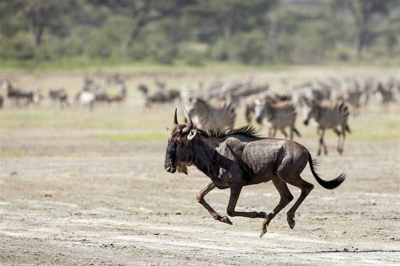
[[[175,173],[176,170],[187,175],[186,166],[191,164],[190,142],[196,136],[197,128],[193,126],[191,118],[185,109],[187,125],[178,124],[176,109],[173,117],[173,127],[166,128],[169,134],[168,146],[165,153],[165,171]]]

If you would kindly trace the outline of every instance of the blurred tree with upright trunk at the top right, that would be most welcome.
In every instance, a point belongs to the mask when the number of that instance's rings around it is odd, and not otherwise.
[[[357,61],[361,60],[368,20],[373,13],[387,14],[389,2],[392,2],[392,0],[332,0],[331,6],[333,8],[346,7],[354,19],[356,26],[354,48]]]

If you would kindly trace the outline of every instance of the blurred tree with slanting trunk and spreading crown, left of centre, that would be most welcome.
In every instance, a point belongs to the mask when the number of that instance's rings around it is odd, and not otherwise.
[[[132,27],[126,42],[123,45],[122,54],[132,46],[136,37],[148,23],[160,20],[167,16],[177,16],[182,8],[194,4],[195,0],[89,0],[93,4],[101,4],[111,9],[118,10],[132,19]]]

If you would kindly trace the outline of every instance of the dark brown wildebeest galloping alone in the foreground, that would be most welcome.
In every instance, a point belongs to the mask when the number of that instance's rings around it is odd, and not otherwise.
[[[322,180],[314,170],[315,162],[308,150],[302,145],[283,139],[260,138],[251,126],[237,129],[209,129],[204,131],[193,126],[186,112],[187,125],[178,124],[175,115],[173,127],[167,128],[169,138],[165,154],[165,171],[187,175],[187,166],[195,165],[211,180],[196,195],[197,201],[204,206],[213,219],[231,225],[226,216],[220,216],[205,201],[204,196],[213,190],[230,188],[227,214],[231,217],[242,216],[264,219],[260,237],[266,233],[266,227],[275,215],[282,210],[293,196],[286,183],[301,190],[300,197],[287,212],[289,227],[294,227],[294,213],[302,201],[313,189],[313,185],[304,181],[300,173],[309,163],[311,173],[325,189],[334,189],[345,179],[340,174],[331,181]],[[280,202],[270,213],[236,212],[236,202],[243,186],[272,181],[280,194]]]

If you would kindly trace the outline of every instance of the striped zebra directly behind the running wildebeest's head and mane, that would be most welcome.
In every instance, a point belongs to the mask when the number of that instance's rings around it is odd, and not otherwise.
[[[211,105],[197,97],[189,98],[185,101],[185,104],[186,111],[197,119],[198,128],[233,128],[236,118],[236,110],[233,104],[219,102],[216,105]]]

